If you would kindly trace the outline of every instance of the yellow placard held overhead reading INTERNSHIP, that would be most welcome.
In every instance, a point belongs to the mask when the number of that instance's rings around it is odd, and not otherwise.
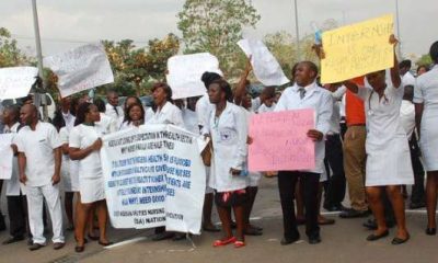
[[[334,83],[394,65],[392,14],[322,34],[321,82]]]

